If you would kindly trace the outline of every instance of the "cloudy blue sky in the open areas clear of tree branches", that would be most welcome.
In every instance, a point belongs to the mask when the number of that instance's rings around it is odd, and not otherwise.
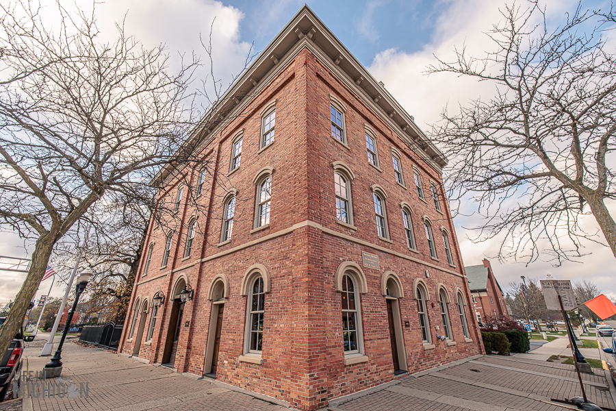
[[[74,10],[74,4],[66,2],[66,8]],[[356,0],[307,4],[423,129],[439,119],[446,105],[493,95],[494,90],[486,84],[446,74],[428,76],[424,71],[429,64],[435,64],[435,55],[447,60],[455,47],[465,45],[472,53],[490,49],[485,32],[502,18],[502,1]],[[548,21],[562,21],[564,13],[575,4],[571,0],[547,1]],[[148,47],[164,43],[170,51],[172,67],[179,66],[182,53],[186,56],[195,51],[205,56],[201,42],[207,44],[211,30],[214,73],[229,84],[229,73],[237,74],[242,69],[246,55],[262,51],[302,5],[302,1],[293,0],[107,0],[97,3],[96,14],[101,38],[113,39],[114,24],[123,24],[128,34]],[[582,1],[582,7],[605,9],[608,1]],[[46,23],[54,24],[52,8],[44,9],[43,15]],[[608,203],[608,207],[616,215],[616,204]],[[489,258],[504,290],[509,288],[509,282],[519,281],[521,275],[543,279],[550,273],[556,279],[590,279],[606,295],[616,297],[614,256],[608,247],[586,244],[584,251],[591,253],[589,256],[559,267],[543,261],[528,266],[515,261],[500,263],[492,259],[498,252],[498,241],[474,244],[469,240],[474,232],[464,227],[474,223],[472,216],[454,219],[464,263],[482,264],[483,258]],[[598,230],[592,218],[583,224]],[[24,247],[16,235],[0,232],[0,256],[23,257],[32,249],[31,245]],[[14,298],[23,276],[0,272],[0,303]],[[41,284],[37,297],[46,294],[50,284],[51,280]],[[54,285],[51,294],[60,296],[62,288]]]

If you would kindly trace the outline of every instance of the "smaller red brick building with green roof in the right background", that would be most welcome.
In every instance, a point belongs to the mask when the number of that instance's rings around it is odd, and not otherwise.
[[[471,301],[473,312],[479,322],[486,317],[506,316],[509,312],[504,301],[504,294],[489,260],[483,260],[483,264],[464,267],[469,288],[471,290]]]

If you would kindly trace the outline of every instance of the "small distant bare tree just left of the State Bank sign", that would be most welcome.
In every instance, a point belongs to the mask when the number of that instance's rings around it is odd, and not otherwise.
[[[548,311],[546,307],[546,301],[543,299],[541,288],[539,286],[539,280],[526,279],[528,284],[517,282],[509,283],[509,292],[507,293],[508,299],[507,306],[511,308],[511,314],[515,318],[525,319],[528,323],[530,321],[537,321],[539,332],[541,332],[541,325],[539,320],[543,318],[543,314]]]

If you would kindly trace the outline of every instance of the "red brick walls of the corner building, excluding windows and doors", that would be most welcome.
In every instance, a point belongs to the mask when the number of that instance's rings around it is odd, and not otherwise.
[[[329,94],[347,106],[346,127],[348,148],[330,136]],[[276,99],[276,134],[274,143],[259,151],[261,110]],[[377,133],[381,171],[368,164],[364,124]],[[242,165],[229,174],[231,138],[244,129]],[[406,188],[396,184],[391,148],[402,152],[402,168]],[[151,310],[146,312],[146,329],[138,356],[151,363],[162,361],[166,336],[170,330],[170,308],[173,288],[180,278],[195,290],[194,299],[185,304],[177,357],[174,368],[180,372],[203,375],[207,335],[212,303],[207,294],[214,276],[223,273],[229,279],[229,298],[224,302],[224,317],[216,379],[270,395],[292,406],[311,410],[327,401],[357,390],[394,379],[392,349],[389,343],[386,300],[381,295],[381,276],[394,271],[402,282],[405,297],[399,300],[408,371],[413,373],[452,360],[480,353],[483,347],[470,306],[465,314],[471,340],[463,338],[462,325],[454,303],[454,289],[461,288],[465,299],[470,293],[463,279],[454,227],[446,201],[443,212],[435,210],[429,196],[428,181],[441,184],[439,172],[402,142],[392,129],[363,103],[356,92],[333,76],[306,49],[285,66],[259,95],[250,101],[229,124],[203,148],[213,171],[203,195],[191,204],[188,190],[179,210],[182,224],[177,225],[169,263],[159,269],[164,253],[164,229],[151,223],[146,244],[154,242],[149,272],[140,276],[131,304],[137,299],[151,298],[158,290],[166,296],[159,310],[151,343],[146,343]],[[333,168],[331,162],[342,161],[355,173],[352,181],[352,204],[357,230],[335,221]],[[255,213],[253,184],[255,174],[272,166],[272,199],[270,227],[251,234]],[[413,181],[415,166],[424,181],[426,200],[418,199]],[[196,180],[198,170],[192,171]],[[175,196],[177,179],[170,179],[169,189],[161,195]],[[193,184],[193,183],[191,183]],[[376,236],[374,207],[370,186],[379,184],[387,193],[387,217],[392,242]],[[194,184],[193,184],[194,185]],[[235,223],[231,241],[219,245],[222,227],[222,198],[230,188],[238,190]],[[174,197],[175,198],[175,197]],[[400,201],[413,208],[413,224],[418,252],[410,251],[405,242]],[[207,208],[207,212],[203,212]],[[188,219],[197,210],[198,230],[192,255],[183,258]],[[430,257],[424,235],[422,216],[433,223],[438,260]],[[454,264],[448,264],[440,227],[450,233]],[[179,240],[178,240],[179,238]],[[352,261],[361,266],[361,252],[378,256],[378,270],[363,268],[368,292],[360,297],[363,343],[367,362],[344,365],[342,345],[341,296],[335,290],[335,272],[341,262]],[[146,259],[144,253],[143,260]],[[240,287],[246,269],[263,264],[271,277],[271,290],[265,297],[263,364],[241,362],[244,353],[246,297]],[[428,270],[430,277],[426,277]],[[425,280],[430,299],[428,316],[433,340],[435,326],[441,324],[437,301],[437,283],[442,283],[452,298],[450,322],[455,345],[437,342],[424,349],[419,331],[417,303],[413,298],[413,281]],[[435,303],[433,307],[432,304]],[[127,327],[120,343],[120,352],[131,355],[136,334],[128,334],[135,311],[126,320]],[[442,326],[442,325],[441,325]]]

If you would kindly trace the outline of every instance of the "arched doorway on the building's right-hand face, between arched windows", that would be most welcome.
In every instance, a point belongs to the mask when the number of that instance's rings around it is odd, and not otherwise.
[[[407,354],[405,350],[405,338],[402,336],[402,321],[400,320],[400,302],[404,297],[400,278],[393,271],[383,274],[381,288],[385,303],[387,304],[387,325],[389,330],[389,342],[392,346],[392,364],[394,374],[407,372]]]

